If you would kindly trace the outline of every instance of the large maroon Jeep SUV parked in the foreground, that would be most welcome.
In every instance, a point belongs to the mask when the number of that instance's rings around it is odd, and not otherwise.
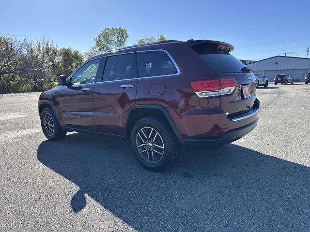
[[[160,171],[181,148],[217,148],[240,139],[258,121],[251,70],[228,43],[162,41],[111,50],[82,63],[43,92],[45,136],[67,131],[118,135],[136,159]]]

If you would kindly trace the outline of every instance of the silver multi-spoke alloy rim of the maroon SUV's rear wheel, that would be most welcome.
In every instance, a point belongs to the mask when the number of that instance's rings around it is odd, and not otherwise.
[[[148,163],[159,162],[165,152],[164,141],[152,127],[143,127],[137,134],[136,145],[143,160]]]

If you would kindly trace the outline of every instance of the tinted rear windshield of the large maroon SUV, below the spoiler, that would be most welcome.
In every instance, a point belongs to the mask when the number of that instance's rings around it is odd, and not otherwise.
[[[246,67],[239,59],[219,49],[218,44],[197,44],[192,49],[215,73],[241,73],[242,68]]]

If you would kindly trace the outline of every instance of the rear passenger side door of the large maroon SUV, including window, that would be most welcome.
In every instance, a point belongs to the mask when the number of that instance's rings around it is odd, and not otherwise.
[[[104,63],[101,81],[93,88],[95,130],[123,135],[124,118],[136,100],[136,53],[113,54],[105,57]]]

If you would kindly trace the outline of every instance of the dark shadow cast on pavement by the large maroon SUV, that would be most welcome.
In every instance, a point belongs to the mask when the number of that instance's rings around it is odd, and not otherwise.
[[[42,142],[38,160],[138,231],[309,231],[310,168],[238,145],[183,152],[152,173],[124,140],[69,134]],[[61,193],[60,193],[61,194]]]

